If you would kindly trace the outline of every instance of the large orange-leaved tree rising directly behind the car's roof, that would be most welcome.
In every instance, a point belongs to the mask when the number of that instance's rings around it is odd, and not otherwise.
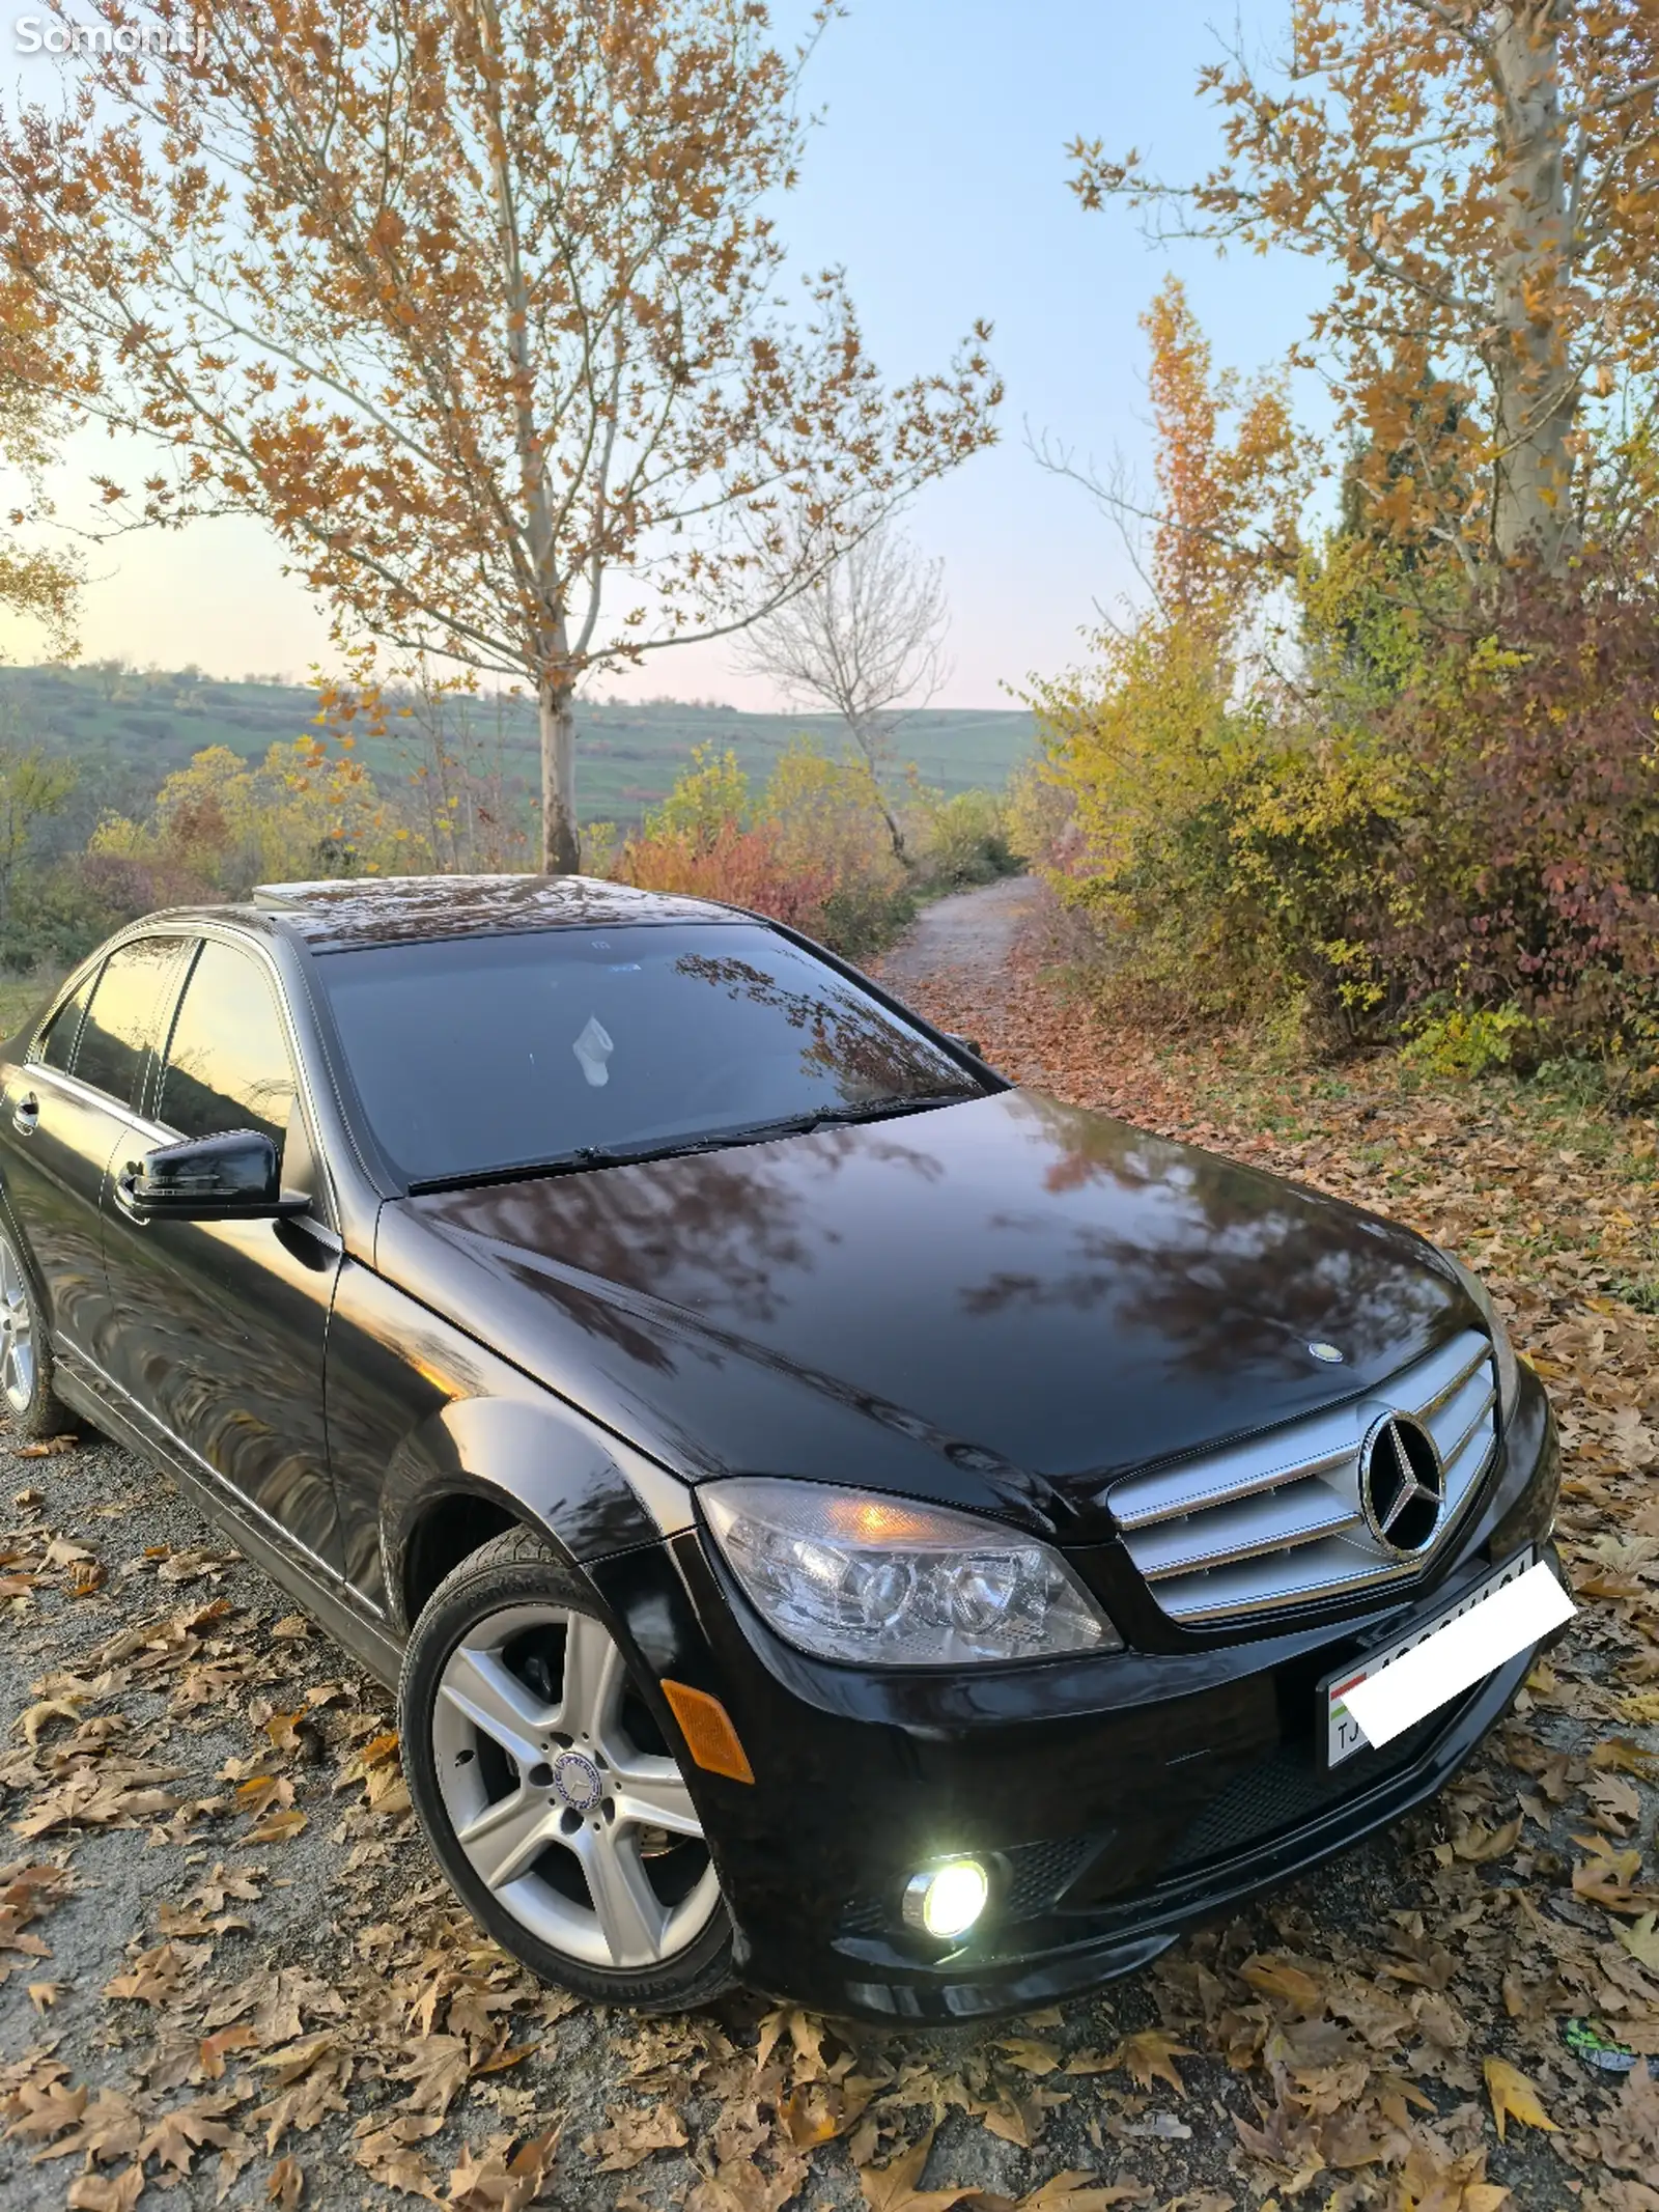
[[[555,869],[584,677],[781,606],[993,436],[984,327],[894,387],[838,270],[792,314],[803,58],[759,0],[248,0],[0,131],[7,270],[159,442],[111,511],[259,515],[343,633],[526,684]]]

